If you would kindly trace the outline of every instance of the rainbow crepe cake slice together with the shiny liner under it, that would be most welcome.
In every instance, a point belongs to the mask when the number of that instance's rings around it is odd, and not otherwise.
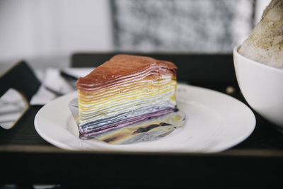
[[[76,83],[79,137],[128,144],[180,127],[175,69],[172,62],[151,57],[116,55],[81,77]]]

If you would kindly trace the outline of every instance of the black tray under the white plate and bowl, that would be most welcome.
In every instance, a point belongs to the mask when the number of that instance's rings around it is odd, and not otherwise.
[[[71,57],[71,67],[96,67],[115,54],[76,53]],[[246,103],[236,82],[232,55],[141,55],[174,62],[179,68],[178,81],[222,93],[232,87],[234,91],[228,94]],[[282,188],[283,135],[255,112],[254,132],[226,151],[141,154],[67,151],[54,147],[35,131],[33,121],[40,108],[31,106],[11,130],[0,129],[0,184],[60,183],[71,188],[90,185]]]

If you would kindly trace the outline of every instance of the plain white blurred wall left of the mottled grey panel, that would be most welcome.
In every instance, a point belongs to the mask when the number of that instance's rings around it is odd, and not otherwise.
[[[0,62],[45,59],[53,66],[72,52],[111,49],[109,1],[0,1]]]

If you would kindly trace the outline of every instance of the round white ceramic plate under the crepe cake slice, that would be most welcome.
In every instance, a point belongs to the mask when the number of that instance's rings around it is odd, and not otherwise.
[[[35,129],[47,142],[62,149],[140,152],[217,152],[246,139],[255,128],[255,115],[245,104],[223,93],[178,84],[178,108],[186,114],[183,127],[162,139],[135,144],[108,144],[79,139],[68,108],[77,93],[59,97],[35,116]]]

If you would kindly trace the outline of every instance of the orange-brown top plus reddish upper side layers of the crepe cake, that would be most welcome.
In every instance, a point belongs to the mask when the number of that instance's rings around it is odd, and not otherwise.
[[[76,86],[80,90],[95,91],[121,81],[137,81],[146,76],[175,76],[175,64],[149,57],[116,55],[87,76],[80,78]]]

